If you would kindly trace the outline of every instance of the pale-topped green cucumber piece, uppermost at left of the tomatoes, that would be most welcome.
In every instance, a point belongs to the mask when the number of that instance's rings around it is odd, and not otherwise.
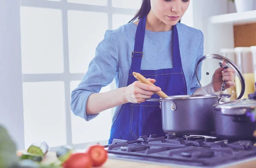
[[[35,142],[28,148],[28,153],[44,156],[49,151],[49,146],[46,142]]]

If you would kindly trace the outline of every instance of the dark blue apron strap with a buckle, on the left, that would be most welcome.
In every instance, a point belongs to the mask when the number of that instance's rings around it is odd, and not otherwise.
[[[143,58],[143,44],[145,38],[146,17],[141,18],[135,35],[134,52],[131,55],[131,69],[140,70]]]

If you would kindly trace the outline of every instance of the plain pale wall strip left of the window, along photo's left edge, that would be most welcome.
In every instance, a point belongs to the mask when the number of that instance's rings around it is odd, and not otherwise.
[[[19,0],[0,0],[0,25],[0,125],[7,128],[17,148],[23,149]]]

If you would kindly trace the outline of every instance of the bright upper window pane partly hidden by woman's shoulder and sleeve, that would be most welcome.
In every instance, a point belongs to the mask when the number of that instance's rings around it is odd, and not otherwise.
[[[69,59],[71,73],[87,72],[96,46],[108,29],[108,14],[68,11]]]

